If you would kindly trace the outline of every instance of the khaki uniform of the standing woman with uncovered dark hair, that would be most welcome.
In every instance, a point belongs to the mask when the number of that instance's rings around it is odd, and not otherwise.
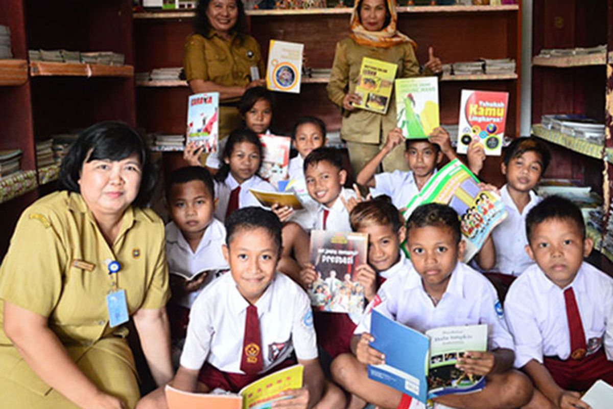
[[[186,79],[211,81],[223,86],[245,86],[251,82],[251,66],[257,66],[264,78],[264,63],[260,46],[251,36],[234,34],[230,42],[221,39],[215,31],[208,36],[191,34],[185,42],[183,67]],[[242,120],[238,110],[224,103],[238,102],[227,99],[219,107],[219,136],[240,128]]]

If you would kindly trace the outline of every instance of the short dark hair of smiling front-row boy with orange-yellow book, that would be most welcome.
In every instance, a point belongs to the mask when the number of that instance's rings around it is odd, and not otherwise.
[[[270,210],[256,206],[242,207],[232,212],[226,219],[226,245],[230,247],[230,242],[239,231],[262,228],[275,240],[281,251],[281,227],[281,221]]]

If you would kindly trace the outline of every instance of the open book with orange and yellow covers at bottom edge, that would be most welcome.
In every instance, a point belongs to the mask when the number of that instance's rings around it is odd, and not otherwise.
[[[272,402],[291,397],[279,396],[281,392],[302,388],[303,370],[301,364],[287,367],[248,384],[238,394],[190,393],[167,385],[166,402],[169,409],[267,409]]]

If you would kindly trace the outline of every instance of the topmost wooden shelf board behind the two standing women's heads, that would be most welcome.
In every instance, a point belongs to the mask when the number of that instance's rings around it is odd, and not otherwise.
[[[402,6],[396,8],[398,13],[487,13],[508,12],[519,10],[517,4],[505,4],[503,6]],[[330,7],[326,9],[272,9],[272,10],[245,10],[248,16],[287,16],[287,15],[331,15],[351,14],[351,7]],[[151,11],[134,13],[135,20],[159,20],[159,19],[188,19],[193,18],[193,11]]]

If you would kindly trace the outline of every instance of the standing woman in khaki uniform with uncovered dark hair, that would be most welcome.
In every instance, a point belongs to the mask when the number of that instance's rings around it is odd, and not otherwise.
[[[196,33],[185,43],[183,67],[194,93],[218,92],[219,136],[240,128],[237,105],[247,88],[265,85],[260,46],[246,34],[242,1],[200,0]]]

